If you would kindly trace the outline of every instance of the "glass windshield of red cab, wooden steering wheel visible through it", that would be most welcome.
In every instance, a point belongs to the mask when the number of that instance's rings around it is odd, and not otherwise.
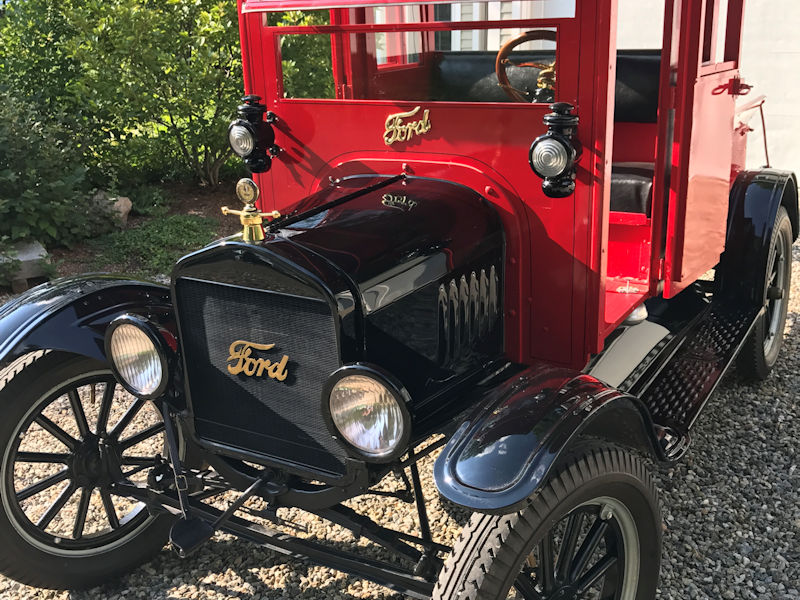
[[[559,24],[574,16],[575,0],[514,0],[266,13],[264,25],[285,99],[512,102],[516,93],[549,103]]]

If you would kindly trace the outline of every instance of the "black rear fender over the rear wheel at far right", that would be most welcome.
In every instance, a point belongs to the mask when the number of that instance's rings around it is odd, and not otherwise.
[[[778,209],[784,206],[794,239],[800,234],[797,177],[788,171],[745,171],[731,189],[725,252],[717,268],[718,291],[726,298],[764,303],[764,265]]]

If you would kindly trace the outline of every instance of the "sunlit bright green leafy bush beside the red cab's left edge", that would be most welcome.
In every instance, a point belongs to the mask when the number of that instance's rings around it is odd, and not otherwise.
[[[236,2],[24,0],[0,19],[0,81],[69,130],[95,183],[215,184],[241,95]]]

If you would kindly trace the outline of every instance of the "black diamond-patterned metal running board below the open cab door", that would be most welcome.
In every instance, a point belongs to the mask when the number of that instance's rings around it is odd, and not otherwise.
[[[679,459],[689,448],[689,431],[760,316],[758,309],[712,302],[639,391],[668,459]]]

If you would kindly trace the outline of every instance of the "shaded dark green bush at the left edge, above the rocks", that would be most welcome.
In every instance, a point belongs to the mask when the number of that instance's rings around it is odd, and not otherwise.
[[[91,200],[86,169],[63,116],[0,90],[0,239],[70,245],[110,224]]]

